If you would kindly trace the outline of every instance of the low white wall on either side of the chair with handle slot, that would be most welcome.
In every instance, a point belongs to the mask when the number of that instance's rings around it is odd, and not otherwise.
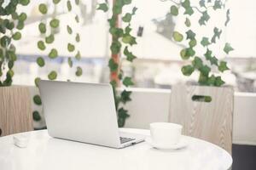
[[[148,128],[150,122],[167,122],[171,90],[131,88],[131,115],[125,127]],[[233,143],[256,145],[256,94],[236,93]]]

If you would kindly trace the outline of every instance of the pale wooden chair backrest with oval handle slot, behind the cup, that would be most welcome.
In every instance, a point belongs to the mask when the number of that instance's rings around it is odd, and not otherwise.
[[[169,122],[182,124],[185,135],[217,144],[231,154],[233,100],[230,87],[175,85]]]

